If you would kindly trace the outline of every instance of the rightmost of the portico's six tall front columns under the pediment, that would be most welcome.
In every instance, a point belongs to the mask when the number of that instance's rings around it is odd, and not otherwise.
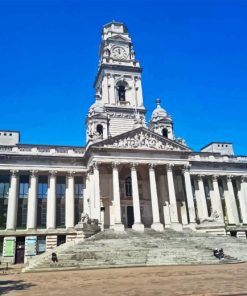
[[[184,175],[184,184],[185,184],[185,192],[187,198],[187,205],[188,205],[188,212],[189,212],[189,224],[194,227],[196,224],[196,213],[195,213],[195,205],[194,205],[194,198],[191,186],[191,179],[190,179],[190,166],[184,166],[183,169]]]

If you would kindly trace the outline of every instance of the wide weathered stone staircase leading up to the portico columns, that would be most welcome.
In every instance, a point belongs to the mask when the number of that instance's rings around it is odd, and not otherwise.
[[[226,259],[213,256],[223,248]],[[58,263],[52,263],[56,252]],[[247,240],[195,232],[165,230],[144,233],[106,230],[85,241],[69,242],[34,257],[24,271],[89,269],[126,266],[239,263],[247,260]]]

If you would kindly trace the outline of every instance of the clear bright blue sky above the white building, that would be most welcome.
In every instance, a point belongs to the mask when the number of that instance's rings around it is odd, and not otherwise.
[[[147,119],[160,97],[176,136],[247,146],[247,1],[0,0],[0,129],[84,145],[102,26],[125,22]]]

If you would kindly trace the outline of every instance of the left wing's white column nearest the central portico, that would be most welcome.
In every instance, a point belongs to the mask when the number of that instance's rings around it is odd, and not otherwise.
[[[69,172],[66,177],[65,191],[65,225],[66,228],[75,226],[75,172]]]

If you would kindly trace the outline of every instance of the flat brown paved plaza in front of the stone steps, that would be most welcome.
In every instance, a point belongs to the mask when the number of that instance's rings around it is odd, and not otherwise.
[[[247,263],[0,275],[0,295],[247,295]]]

